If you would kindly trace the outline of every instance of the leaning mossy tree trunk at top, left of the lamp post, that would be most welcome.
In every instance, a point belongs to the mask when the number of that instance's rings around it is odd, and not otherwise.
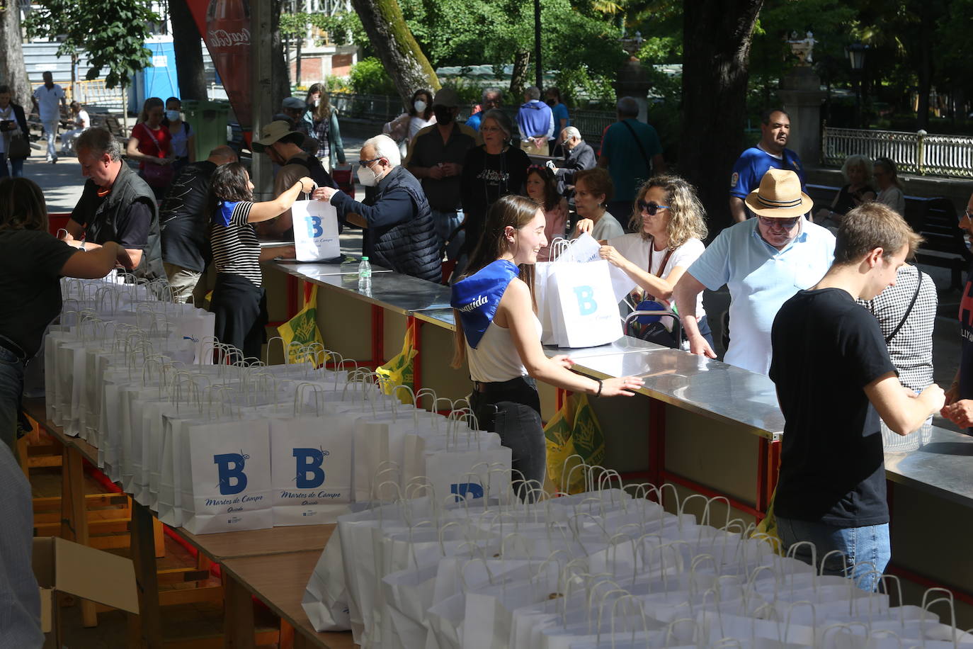
[[[409,30],[398,0],[351,0],[385,72],[405,105],[415,90],[439,90],[439,78]]]

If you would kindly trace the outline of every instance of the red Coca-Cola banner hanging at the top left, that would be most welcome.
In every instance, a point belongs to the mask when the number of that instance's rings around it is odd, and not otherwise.
[[[236,121],[250,130],[250,3],[248,0],[187,0],[216,72],[234,107]]]

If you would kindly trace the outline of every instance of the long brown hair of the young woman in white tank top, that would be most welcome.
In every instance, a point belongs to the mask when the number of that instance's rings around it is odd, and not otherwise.
[[[530,198],[508,194],[497,198],[489,211],[486,212],[486,226],[484,236],[480,239],[476,249],[470,256],[470,262],[466,267],[466,273],[460,279],[466,278],[477,270],[482,270],[487,265],[500,259],[503,253],[507,252],[510,244],[507,243],[506,230],[511,227],[515,230],[527,226],[537,215],[538,205]],[[537,302],[534,299],[534,267],[533,264],[521,264],[518,277],[530,289],[530,302],[537,310]],[[466,341],[463,336],[463,323],[459,320],[459,311],[452,309],[452,317],[456,325],[456,332],[453,337],[452,362],[450,367],[457,369],[466,360]]]

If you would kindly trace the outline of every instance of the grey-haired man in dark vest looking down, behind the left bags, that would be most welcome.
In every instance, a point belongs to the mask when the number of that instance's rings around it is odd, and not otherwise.
[[[75,144],[81,173],[88,178],[67,222],[64,240],[93,250],[118,241],[140,279],[165,279],[159,237],[159,209],[152,188],[122,160],[122,146],[106,128],[89,128]]]

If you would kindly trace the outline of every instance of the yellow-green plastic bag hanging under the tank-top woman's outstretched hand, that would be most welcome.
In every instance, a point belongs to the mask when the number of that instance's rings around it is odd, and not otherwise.
[[[584,394],[572,394],[564,401],[557,415],[544,428],[547,442],[548,477],[558,489],[570,475],[568,493],[585,489],[585,474],[572,469],[582,462],[601,464],[605,456],[605,440],[595,411]],[[571,457],[572,455],[580,455]]]

